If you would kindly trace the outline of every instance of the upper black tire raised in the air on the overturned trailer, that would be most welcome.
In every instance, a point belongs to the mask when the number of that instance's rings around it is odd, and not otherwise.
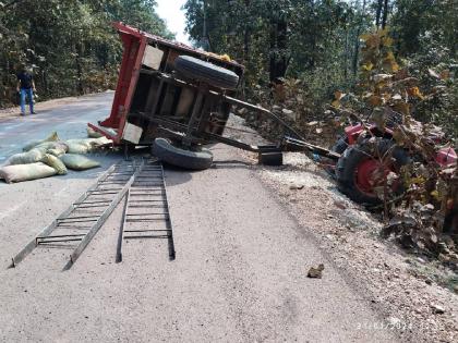
[[[174,69],[185,77],[205,82],[214,87],[236,89],[239,85],[239,76],[234,72],[190,56],[179,56],[174,60]]]

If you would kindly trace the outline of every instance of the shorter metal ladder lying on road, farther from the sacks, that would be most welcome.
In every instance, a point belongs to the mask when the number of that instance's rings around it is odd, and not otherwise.
[[[147,238],[167,238],[169,259],[174,260],[173,232],[164,168],[157,160],[149,160],[143,166],[125,195],[116,261],[122,261],[124,240]]]

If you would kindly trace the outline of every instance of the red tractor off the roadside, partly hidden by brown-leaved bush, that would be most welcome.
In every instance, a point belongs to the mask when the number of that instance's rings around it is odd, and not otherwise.
[[[443,143],[443,137],[438,136],[429,139],[432,145]],[[432,160],[424,161],[395,144],[393,128],[386,127],[382,132],[376,125],[367,127],[362,123],[346,127],[345,135],[332,150],[340,154],[334,172],[339,191],[353,201],[367,206],[382,204],[381,192],[401,195],[406,189],[400,171],[412,161],[436,163],[444,169],[457,164],[457,154],[450,146],[439,148]],[[457,230],[458,221],[458,204],[455,203],[449,199],[447,204],[446,222],[453,230]]]

